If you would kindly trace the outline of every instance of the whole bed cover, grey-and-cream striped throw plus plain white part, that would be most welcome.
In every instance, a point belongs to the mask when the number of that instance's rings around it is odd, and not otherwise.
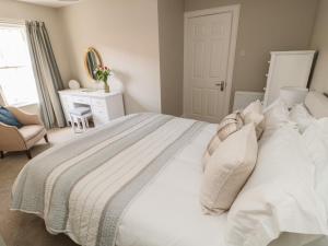
[[[227,213],[204,215],[199,203],[200,163],[215,131],[167,115],[119,118],[32,160],[11,209],[83,246],[227,246]]]

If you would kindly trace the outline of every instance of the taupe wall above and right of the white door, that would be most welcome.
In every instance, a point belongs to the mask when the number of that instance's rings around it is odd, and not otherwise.
[[[262,91],[270,50],[307,49],[317,0],[186,0],[186,11],[241,3],[233,87]],[[233,97],[233,96],[232,96]]]

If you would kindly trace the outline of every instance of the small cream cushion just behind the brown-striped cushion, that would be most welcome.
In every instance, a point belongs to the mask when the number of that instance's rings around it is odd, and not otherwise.
[[[256,129],[256,136],[258,139],[260,139],[262,132],[263,132],[263,108],[261,102],[258,99],[251,104],[249,104],[244,110],[243,110],[243,118],[245,125],[253,122],[255,125]]]

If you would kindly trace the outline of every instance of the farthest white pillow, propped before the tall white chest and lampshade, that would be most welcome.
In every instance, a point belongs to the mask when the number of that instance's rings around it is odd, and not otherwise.
[[[277,130],[285,125],[292,125],[296,128],[296,124],[290,120],[290,112],[282,99],[277,99],[263,112],[265,114],[265,130]]]

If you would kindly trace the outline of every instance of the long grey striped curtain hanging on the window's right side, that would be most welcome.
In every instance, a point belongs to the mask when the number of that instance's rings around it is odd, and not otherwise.
[[[63,84],[45,23],[27,21],[26,33],[44,124],[48,129],[65,127],[58,95]]]

